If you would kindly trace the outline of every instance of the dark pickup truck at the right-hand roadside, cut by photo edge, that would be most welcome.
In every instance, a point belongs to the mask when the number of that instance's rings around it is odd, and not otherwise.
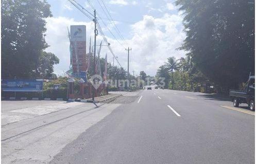
[[[255,76],[249,76],[243,89],[230,90],[229,96],[233,101],[233,106],[238,107],[241,103],[246,103],[251,111],[255,110]]]

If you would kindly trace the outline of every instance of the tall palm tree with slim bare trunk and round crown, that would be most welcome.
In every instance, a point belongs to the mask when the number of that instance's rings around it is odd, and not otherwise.
[[[167,62],[165,62],[165,68],[170,71],[172,74],[172,89],[174,89],[174,71],[179,71],[179,60],[177,60],[174,56],[167,58]]]

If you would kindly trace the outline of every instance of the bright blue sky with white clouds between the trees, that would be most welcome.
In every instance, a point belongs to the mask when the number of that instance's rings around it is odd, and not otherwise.
[[[49,47],[46,52],[52,52],[59,57],[60,63],[54,66],[54,72],[62,75],[69,70],[70,51],[67,27],[71,25],[86,25],[87,28],[87,53],[89,50],[90,37],[94,41],[94,24],[90,18],[83,15],[67,0],[47,0],[53,17],[46,18],[45,40]],[[93,14],[93,9],[88,1],[76,0],[83,8]],[[114,54],[124,69],[127,70],[127,51],[130,47],[129,72],[139,75],[140,71],[155,76],[157,69],[164,65],[167,58],[185,56],[184,51],[177,50],[185,39],[183,32],[182,12],[178,11],[172,0],[103,0],[114,24],[122,34],[108,20],[103,9],[101,0],[91,0],[91,4],[102,18],[99,24],[110,43]],[[103,6],[104,7],[104,6]],[[107,11],[105,10],[107,13]],[[107,27],[105,25],[107,25]],[[109,32],[109,30],[112,32]],[[99,45],[102,37],[97,36],[96,43]],[[103,42],[103,44],[105,44]],[[113,64],[113,56],[107,47],[102,47],[100,56],[108,54],[108,62]],[[114,65],[117,62],[114,61]]]

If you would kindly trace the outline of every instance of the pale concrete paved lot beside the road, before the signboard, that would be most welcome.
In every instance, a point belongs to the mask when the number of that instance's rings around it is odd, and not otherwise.
[[[2,101],[1,161],[48,163],[118,106],[120,104]]]

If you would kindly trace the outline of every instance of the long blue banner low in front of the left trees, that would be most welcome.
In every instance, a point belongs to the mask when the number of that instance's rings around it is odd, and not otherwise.
[[[6,92],[42,92],[43,79],[2,79],[1,87]]]

